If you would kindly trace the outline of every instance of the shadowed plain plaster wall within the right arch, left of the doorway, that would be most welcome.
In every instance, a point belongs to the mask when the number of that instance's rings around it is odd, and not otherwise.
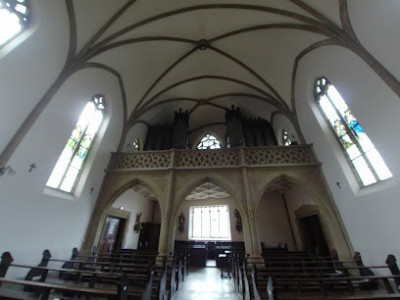
[[[260,242],[266,247],[277,247],[287,243],[294,250],[290,223],[281,195],[265,193],[257,209],[256,222]]]

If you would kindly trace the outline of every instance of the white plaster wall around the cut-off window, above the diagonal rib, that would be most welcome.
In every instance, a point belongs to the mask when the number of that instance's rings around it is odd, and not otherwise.
[[[67,55],[65,4],[38,0],[31,5],[29,32],[13,43],[20,42],[14,48],[0,49],[0,151],[61,72]]]

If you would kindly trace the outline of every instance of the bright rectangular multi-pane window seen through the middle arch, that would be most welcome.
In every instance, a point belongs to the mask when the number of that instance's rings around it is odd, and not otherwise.
[[[189,239],[230,240],[229,208],[227,205],[190,207]]]

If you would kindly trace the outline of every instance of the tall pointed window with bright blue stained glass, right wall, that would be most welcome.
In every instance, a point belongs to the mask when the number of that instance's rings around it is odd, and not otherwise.
[[[315,83],[315,99],[364,186],[392,177],[374,144],[328,79]]]

